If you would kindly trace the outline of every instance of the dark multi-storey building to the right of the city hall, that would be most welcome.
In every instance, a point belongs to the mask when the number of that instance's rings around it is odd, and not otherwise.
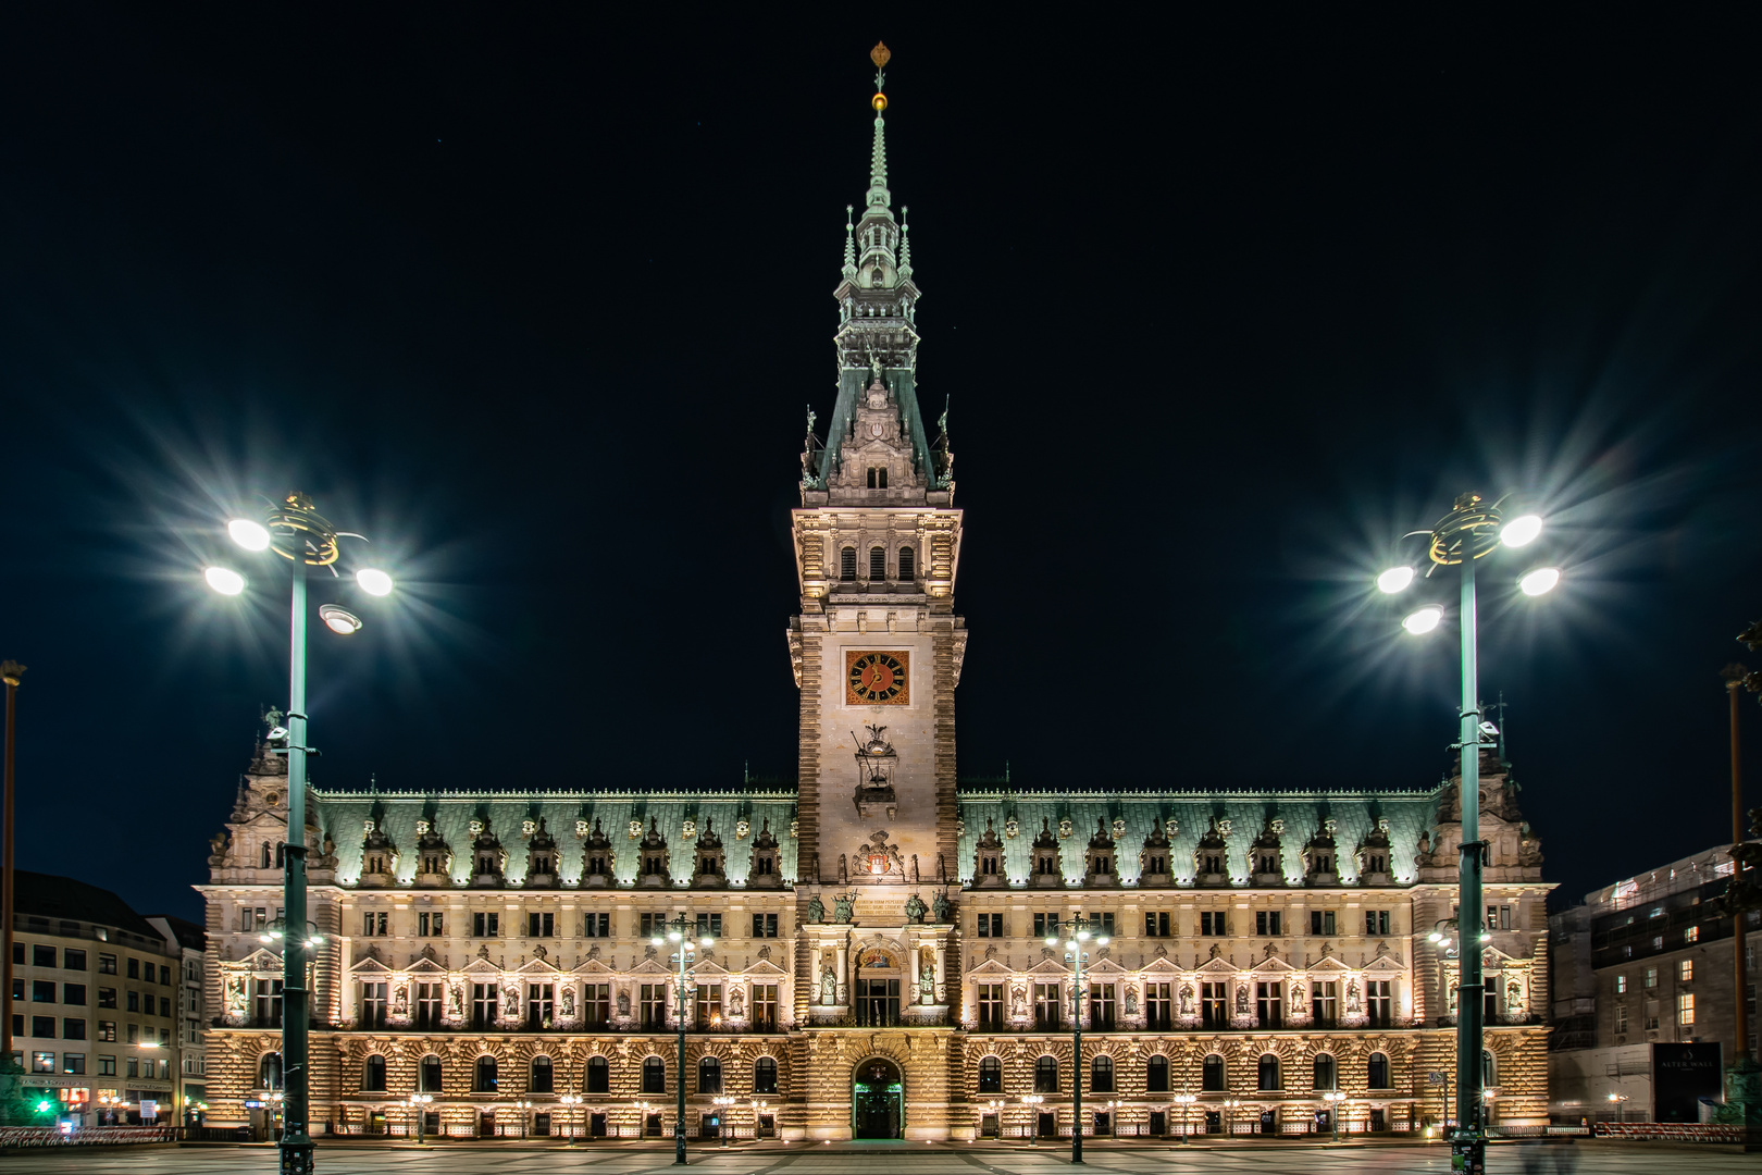
[[[1697,1120],[1693,1099],[1672,1096],[1670,1069],[1711,1045],[1721,1064],[1737,1046],[1732,920],[1714,898],[1732,877],[1727,846],[1662,865],[1584,895],[1549,918],[1554,969],[1554,1039],[1549,1055],[1556,1119],[1602,1122]],[[1762,914],[1748,914],[1748,932]],[[1755,937],[1746,942],[1743,1001],[1750,1055],[1757,1055]],[[1663,1048],[1660,1048],[1663,1046]],[[1702,1050],[1702,1057],[1711,1055]],[[1702,1062],[1718,1096],[1718,1064]],[[1706,1083],[1706,1082],[1704,1082]],[[1663,1103],[1663,1105],[1660,1105]]]

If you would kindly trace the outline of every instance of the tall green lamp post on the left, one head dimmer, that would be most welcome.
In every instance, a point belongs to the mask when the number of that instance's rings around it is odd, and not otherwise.
[[[284,918],[289,927],[307,925],[307,569],[329,567],[340,555],[337,541],[345,536],[317,513],[305,493],[289,493],[271,506],[264,520],[234,518],[227,534],[247,551],[275,551],[292,564],[292,606],[287,652],[287,842],[282,846]],[[361,537],[361,536],[347,536]],[[245,576],[231,567],[210,565],[203,571],[208,587],[222,595],[245,590]],[[356,583],[372,595],[391,592],[391,576],[374,567],[356,571]],[[333,632],[349,636],[361,622],[337,604],[324,604],[321,617]],[[282,944],[282,1175],[312,1175],[312,1133],[307,1101],[307,941],[291,934]]]

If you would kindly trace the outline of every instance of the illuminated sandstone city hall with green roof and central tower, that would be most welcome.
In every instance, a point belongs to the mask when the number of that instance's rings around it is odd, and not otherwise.
[[[960,780],[966,520],[946,416],[918,403],[885,106],[835,291],[837,402],[823,432],[809,416],[793,511],[798,784],[310,789],[315,1134],[671,1138],[680,1083],[694,1138],[1306,1134],[1336,1106],[1341,1131],[1401,1134],[1445,1117],[1431,1076],[1454,1085],[1455,958],[1427,935],[1454,916],[1454,780]],[[1480,779],[1489,1112],[1540,1124],[1549,886],[1508,765],[1487,750]],[[211,1126],[275,1127],[285,805],[264,745],[199,886]],[[712,939],[685,976],[684,1068],[678,916]]]

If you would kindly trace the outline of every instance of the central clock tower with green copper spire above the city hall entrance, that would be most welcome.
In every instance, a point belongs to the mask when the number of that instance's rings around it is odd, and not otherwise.
[[[877,62],[879,63],[879,62]],[[809,410],[793,511],[802,608],[789,661],[802,691],[798,870],[805,884],[906,902],[959,886],[955,685],[967,632],[948,414],[918,405],[918,285],[906,210],[893,217],[886,99],[874,97],[862,215],[848,208],[833,298],[837,400]],[[867,886],[902,886],[895,893]]]

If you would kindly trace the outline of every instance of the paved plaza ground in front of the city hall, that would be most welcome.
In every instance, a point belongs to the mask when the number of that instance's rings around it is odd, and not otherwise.
[[[0,1157],[7,1175],[273,1175],[277,1163],[266,1147],[116,1147],[16,1152]],[[1084,1164],[1096,1175],[1447,1175],[1443,1147],[1417,1145],[1221,1145],[1221,1147],[1091,1147]],[[1055,1175],[1070,1170],[1070,1150],[996,1143],[833,1143],[765,1145],[733,1150],[692,1149],[691,1166],[703,1175],[849,1175],[853,1166],[892,1166],[913,1175]],[[319,1147],[319,1175],[661,1175],[673,1170],[673,1150],[663,1147],[596,1145],[516,1147],[453,1143]],[[1706,1171],[1755,1175],[1755,1156],[1729,1147],[1672,1147],[1656,1143],[1496,1145],[1489,1175],[1653,1175]]]

